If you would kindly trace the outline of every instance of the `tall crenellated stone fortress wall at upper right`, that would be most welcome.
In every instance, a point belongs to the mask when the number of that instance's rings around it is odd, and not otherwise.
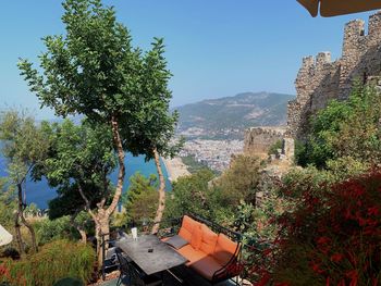
[[[345,25],[342,57],[331,61],[330,52],[303,59],[297,74],[296,99],[288,102],[286,137],[305,138],[309,117],[331,99],[347,99],[355,80],[366,83],[381,75],[381,12],[365,22]]]

